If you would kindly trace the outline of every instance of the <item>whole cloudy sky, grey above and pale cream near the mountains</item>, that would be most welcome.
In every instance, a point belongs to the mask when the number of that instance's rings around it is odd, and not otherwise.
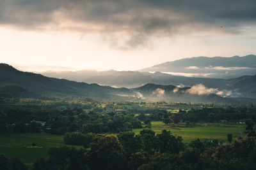
[[[256,54],[255,0],[0,0],[0,62],[137,70]]]

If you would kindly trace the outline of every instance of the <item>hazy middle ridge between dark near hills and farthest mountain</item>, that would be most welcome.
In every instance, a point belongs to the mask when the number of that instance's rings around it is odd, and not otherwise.
[[[68,80],[99,83],[112,87],[135,88],[147,83],[160,85],[175,85],[192,87],[203,84],[207,88],[231,92],[230,97],[256,98],[256,76],[241,76],[238,78],[196,78],[187,76],[174,76],[166,73],[147,73],[138,71],[79,71],[79,72],[45,72],[46,76],[62,77]]]

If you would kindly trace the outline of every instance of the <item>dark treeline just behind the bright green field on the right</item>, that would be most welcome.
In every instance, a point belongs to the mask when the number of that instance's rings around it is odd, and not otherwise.
[[[190,109],[188,111],[179,110],[178,113],[170,113],[166,110],[157,110],[150,115],[140,113],[138,118],[141,121],[163,121],[166,124],[181,122],[220,122],[227,120],[228,122],[245,122],[246,119],[256,120],[256,107],[253,106],[234,106],[227,108],[202,108],[202,110]]]

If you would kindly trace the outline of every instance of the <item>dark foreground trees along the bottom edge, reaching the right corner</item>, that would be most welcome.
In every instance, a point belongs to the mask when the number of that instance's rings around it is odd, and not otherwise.
[[[49,158],[35,162],[34,170],[255,169],[256,166],[255,135],[233,143],[196,139],[184,145],[182,138],[170,131],[155,134],[144,129],[138,135],[134,132],[97,135],[86,148],[61,146],[50,148],[48,153]]]

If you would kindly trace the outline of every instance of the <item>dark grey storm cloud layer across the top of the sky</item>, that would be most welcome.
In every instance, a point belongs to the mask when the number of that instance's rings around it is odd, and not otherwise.
[[[65,25],[68,29],[126,32],[132,46],[143,43],[141,38],[146,36],[184,34],[220,25],[239,32],[236,27],[255,24],[255,9],[255,0],[0,0],[0,24],[44,29],[69,20],[77,25]]]

